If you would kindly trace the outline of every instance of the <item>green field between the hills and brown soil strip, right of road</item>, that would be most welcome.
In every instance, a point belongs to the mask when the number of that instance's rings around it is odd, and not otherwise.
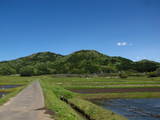
[[[69,88],[125,88],[125,87],[160,87],[160,77],[129,77],[127,79],[121,78],[76,78],[76,77],[46,77],[52,80],[54,84],[61,85],[67,89]]]

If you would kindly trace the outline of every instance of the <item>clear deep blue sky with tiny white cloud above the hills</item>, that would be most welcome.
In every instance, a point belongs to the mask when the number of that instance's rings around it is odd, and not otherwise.
[[[160,61],[160,0],[0,0],[0,61],[81,49]]]

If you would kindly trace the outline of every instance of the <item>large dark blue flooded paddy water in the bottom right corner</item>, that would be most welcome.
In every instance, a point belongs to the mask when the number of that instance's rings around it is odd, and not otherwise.
[[[129,120],[160,120],[160,99],[93,100],[94,103]]]

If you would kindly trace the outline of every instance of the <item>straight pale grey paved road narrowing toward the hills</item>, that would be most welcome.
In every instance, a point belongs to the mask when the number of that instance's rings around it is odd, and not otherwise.
[[[0,120],[52,120],[44,110],[42,88],[33,82],[16,97],[0,107]]]

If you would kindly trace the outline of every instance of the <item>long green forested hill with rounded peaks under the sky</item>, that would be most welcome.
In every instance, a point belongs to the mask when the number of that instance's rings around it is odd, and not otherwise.
[[[160,63],[142,60],[133,62],[123,57],[111,57],[95,50],[81,50],[69,55],[40,52],[11,61],[0,62],[0,74],[102,74],[118,71],[152,72]]]

